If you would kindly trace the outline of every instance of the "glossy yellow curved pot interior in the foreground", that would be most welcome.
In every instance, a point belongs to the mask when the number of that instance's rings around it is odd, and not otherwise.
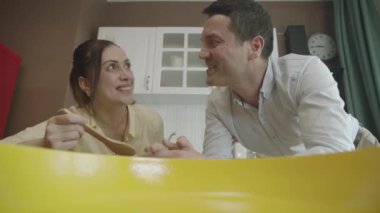
[[[380,149],[184,160],[0,143],[0,212],[380,212]]]

